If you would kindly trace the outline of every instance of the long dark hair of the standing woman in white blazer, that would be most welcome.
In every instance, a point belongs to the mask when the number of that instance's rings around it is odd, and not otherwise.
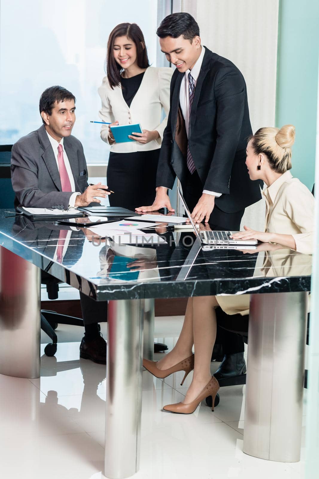
[[[135,43],[137,65],[140,68],[147,68],[150,66],[147,57],[144,35],[140,27],[136,23],[120,23],[115,28],[113,28],[110,33],[107,55],[105,60],[106,73],[112,89],[117,85],[120,85],[121,83],[120,73],[122,68],[121,65],[119,65],[118,62],[115,61],[113,54],[114,42],[117,36],[127,36],[127,38],[129,38],[130,40],[132,40],[132,42]]]

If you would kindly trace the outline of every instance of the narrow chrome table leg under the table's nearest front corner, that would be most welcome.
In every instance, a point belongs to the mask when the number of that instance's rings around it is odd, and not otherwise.
[[[142,301],[109,301],[104,474],[110,479],[127,478],[139,469]]]

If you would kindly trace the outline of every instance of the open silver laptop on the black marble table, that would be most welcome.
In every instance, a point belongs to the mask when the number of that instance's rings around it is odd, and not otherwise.
[[[234,250],[254,250],[256,244],[258,243],[257,239],[232,239],[230,236],[236,231],[198,231],[198,228],[192,218],[190,211],[187,207],[187,204],[184,200],[184,197],[178,187],[178,194],[185,208],[187,217],[191,222],[194,232],[201,242],[203,250],[211,249],[234,249]]]

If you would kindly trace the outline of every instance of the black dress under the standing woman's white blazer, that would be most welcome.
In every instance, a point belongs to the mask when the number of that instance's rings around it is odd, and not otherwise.
[[[140,88],[144,73],[121,78],[122,93],[128,107]],[[160,148],[132,153],[110,152],[107,183],[111,206],[134,210],[138,206],[152,205],[155,198],[156,171]]]

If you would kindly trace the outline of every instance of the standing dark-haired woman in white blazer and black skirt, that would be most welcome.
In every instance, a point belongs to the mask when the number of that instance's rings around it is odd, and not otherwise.
[[[107,76],[99,87],[99,116],[112,125],[140,123],[134,141],[116,143],[109,125],[101,138],[110,145],[107,170],[110,205],[134,210],[153,203],[159,151],[169,111],[172,68],[150,67],[145,40],[136,23],[121,23],[110,33]],[[134,132],[132,132],[134,133]]]

